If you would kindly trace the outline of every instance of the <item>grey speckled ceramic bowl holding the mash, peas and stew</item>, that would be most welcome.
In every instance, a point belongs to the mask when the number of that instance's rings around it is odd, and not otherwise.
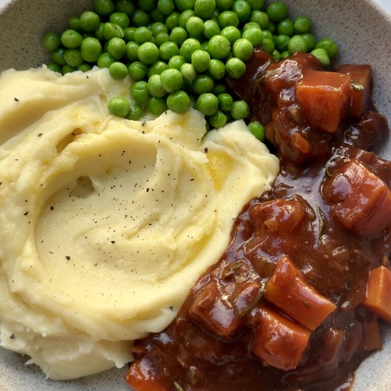
[[[385,45],[391,42],[391,17],[372,0],[285,0],[293,16],[316,21],[315,34],[329,36],[341,47],[340,63],[371,64],[374,100],[391,123],[391,61]],[[26,69],[46,60],[41,39],[48,30],[62,30],[70,16],[91,8],[92,0],[14,0],[0,9],[0,71]],[[381,151],[391,156],[391,144]],[[2,298],[0,297],[0,300]],[[354,391],[391,390],[391,327],[383,325],[384,348],[365,361],[356,374]],[[27,357],[0,349],[0,391],[120,391],[125,369],[65,382],[46,380]]]

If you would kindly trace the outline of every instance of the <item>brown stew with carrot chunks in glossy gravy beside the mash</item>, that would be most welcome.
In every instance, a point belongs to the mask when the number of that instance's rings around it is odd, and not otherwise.
[[[226,253],[172,325],[134,347],[127,382],[138,391],[347,390],[381,347],[362,301],[369,271],[389,268],[391,245],[391,163],[367,151],[388,126],[368,68],[323,72],[312,55],[274,63],[259,51],[230,83],[267,124],[281,172],[238,216]],[[319,112],[317,96],[326,97]]]

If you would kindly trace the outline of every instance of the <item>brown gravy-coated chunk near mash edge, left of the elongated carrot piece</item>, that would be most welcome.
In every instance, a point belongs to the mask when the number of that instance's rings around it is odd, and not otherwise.
[[[189,315],[208,330],[225,338],[231,337],[241,322],[232,304],[220,297],[213,283],[206,285],[195,296]]]

